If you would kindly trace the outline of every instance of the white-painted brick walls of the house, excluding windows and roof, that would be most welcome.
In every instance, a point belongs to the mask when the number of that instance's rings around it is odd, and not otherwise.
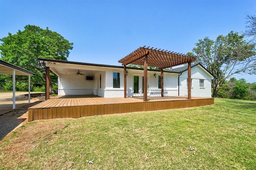
[[[124,69],[123,68],[104,68],[91,66],[88,70],[94,75],[94,80],[86,80],[86,76],[77,76],[73,74],[61,74],[58,82],[58,94],[94,94],[106,98],[124,97]],[[127,96],[142,96],[142,89],[139,94],[133,94],[133,78],[139,76],[140,87],[142,85],[143,70],[127,69]],[[85,70],[86,71],[86,70]],[[192,68],[192,96],[210,97],[211,96],[211,78],[201,66]],[[121,73],[120,88],[113,88],[113,72]],[[156,73],[156,77],[154,74]],[[99,76],[101,74],[101,88],[99,86]],[[148,90],[150,96],[161,96],[161,89],[158,88],[158,75],[160,72],[148,71]],[[187,96],[186,86],[187,71],[180,76],[180,96]],[[199,80],[204,79],[205,88],[199,87]],[[178,74],[164,72],[164,96],[178,95]]]

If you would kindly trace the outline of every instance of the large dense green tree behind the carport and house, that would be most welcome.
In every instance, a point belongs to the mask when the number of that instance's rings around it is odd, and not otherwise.
[[[42,29],[35,25],[26,25],[24,28],[24,31],[18,30],[14,35],[8,33],[7,37],[0,39],[1,59],[34,72],[36,75],[31,78],[32,87],[44,86],[45,68],[37,58],[67,60],[73,43],[48,27]],[[22,79],[17,76],[19,78]],[[9,81],[8,78],[5,80]],[[51,73],[51,87],[54,84],[56,86],[57,81],[56,75]]]

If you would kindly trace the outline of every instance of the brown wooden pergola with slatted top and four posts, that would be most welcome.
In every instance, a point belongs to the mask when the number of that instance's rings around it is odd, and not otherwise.
[[[124,98],[127,98],[127,85],[126,85],[126,65],[136,64],[144,66],[144,101],[147,101],[147,86],[148,86],[148,66],[158,67],[161,70],[161,96],[164,96],[164,68],[177,66],[180,64],[188,63],[188,99],[191,99],[191,62],[196,61],[193,56],[185,54],[174,53],[168,50],[153,49],[154,47],[140,47],[120,59],[118,63],[124,66]]]

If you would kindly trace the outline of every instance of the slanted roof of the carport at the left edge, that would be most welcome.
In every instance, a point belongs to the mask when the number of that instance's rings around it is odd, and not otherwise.
[[[30,72],[28,70],[25,70],[14,64],[8,63],[0,59],[0,74],[12,75],[13,70],[15,70],[15,75],[20,75],[20,76],[35,75],[34,72]]]

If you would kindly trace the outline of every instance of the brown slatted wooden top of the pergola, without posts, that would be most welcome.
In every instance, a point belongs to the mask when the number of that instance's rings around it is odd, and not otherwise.
[[[120,59],[118,63],[122,63],[122,65],[126,64],[136,64],[136,65],[144,65],[144,56],[148,55],[147,63],[148,66],[158,67],[160,69],[168,68],[172,66],[177,66],[180,64],[185,64],[189,62],[196,61],[196,58],[193,56],[188,56],[185,54],[174,53],[174,51],[170,52],[168,50],[161,49],[153,49],[149,47],[140,47],[127,55],[126,57]]]

